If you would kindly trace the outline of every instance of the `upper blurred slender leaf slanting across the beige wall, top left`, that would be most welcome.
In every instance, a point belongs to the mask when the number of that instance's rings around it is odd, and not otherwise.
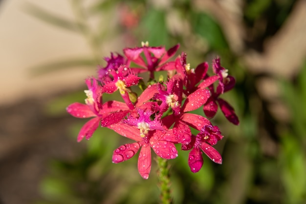
[[[72,22],[70,20],[66,20],[62,17],[56,16],[55,14],[51,14],[50,12],[39,8],[38,6],[27,3],[24,7],[24,11],[34,17],[36,17],[39,20],[43,20],[44,22],[47,22],[51,25],[64,28],[69,31],[79,32],[80,27],[83,27],[85,25]]]

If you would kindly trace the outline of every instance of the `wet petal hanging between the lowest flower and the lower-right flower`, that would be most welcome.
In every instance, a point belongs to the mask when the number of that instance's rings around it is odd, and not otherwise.
[[[191,130],[187,124],[175,122],[173,134],[178,143],[188,144],[191,142]]]

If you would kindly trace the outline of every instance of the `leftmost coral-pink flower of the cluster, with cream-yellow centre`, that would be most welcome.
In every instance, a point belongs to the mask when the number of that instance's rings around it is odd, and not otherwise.
[[[126,104],[123,102],[109,101],[102,104],[102,87],[98,85],[97,81],[92,79],[86,80],[88,90],[85,90],[87,99],[86,104],[75,102],[70,104],[66,111],[76,118],[91,118],[81,128],[77,141],[80,142],[85,137],[87,140],[92,136],[94,131],[98,128],[100,122],[109,116],[112,112],[124,113]],[[125,115],[127,112],[124,113]],[[124,116],[123,116],[124,117]],[[122,118],[113,118],[109,123],[119,122]]]

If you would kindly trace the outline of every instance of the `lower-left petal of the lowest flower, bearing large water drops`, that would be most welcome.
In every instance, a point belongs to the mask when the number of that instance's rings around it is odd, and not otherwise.
[[[139,150],[139,143],[124,144],[114,150],[112,163],[120,163],[131,159]]]

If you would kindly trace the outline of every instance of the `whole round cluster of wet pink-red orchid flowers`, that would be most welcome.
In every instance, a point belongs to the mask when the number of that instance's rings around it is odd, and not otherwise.
[[[74,117],[91,118],[81,128],[78,142],[88,140],[99,126],[131,139],[133,143],[114,150],[112,162],[126,161],[140,149],[138,171],[144,179],[151,170],[151,149],[161,158],[175,159],[175,144],[181,144],[182,150],[191,150],[188,164],[192,172],[202,167],[202,152],[213,162],[222,163],[212,146],[223,136],[209,119],[215,116],[219,105],[230,122],[239,123],[233,107],[219,98],[234,87],[235,79],[220,65],[219,58],[213,61],[212,76],[207,73],[207,62],[191,68],[184,52],[170,61],[178,48],[175,45],[166,50],[163,46],[150,47],[146,42],[141,47],[125,48],[124,55],[111,53],[105,58],[107,65],[99,67],[98,77],[86,80],[85,104],[75,102],[66,108]],[[166,81],[162,77],[154,79],[159,71],[167,73]],[[149,80],[143,79],[148,78],[146,72]],[[139,96],[133,91],[135,87],[142,90]],[[103,94],[117,90],[123,102],[103,102]],[[200,107],[209,119],[190,113]],[[197,135],[192,134],[191,128],[197,130]]]

